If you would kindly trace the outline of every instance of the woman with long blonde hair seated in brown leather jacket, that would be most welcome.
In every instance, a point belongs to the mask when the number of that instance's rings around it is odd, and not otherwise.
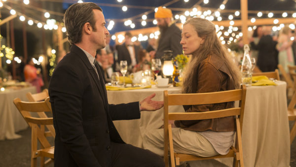
[[[215,92],[240,87],[240,71],[218,39],[212,22],[202,18],[187,20],[180,43],[184,53],[192,55],[185,70],[183,93]],[[205,112],[231,108],[233,105],[233,102],[228,102],[184,106],[184,109],[185,112]],[[233,144],[234,117],[175,121],[171,124],[175,127],[172,128],[174,150],[180,153],[202,157],[225,155]],[[153,130],[146,136],[151,144],[159,148],[153,147],[151,151],[161,155],[159,150],[163,148],[163,131]]]

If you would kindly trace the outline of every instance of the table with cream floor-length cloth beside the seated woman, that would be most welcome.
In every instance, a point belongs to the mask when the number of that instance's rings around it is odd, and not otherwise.
[[[286,82],[277,85],[247,86],[245,112],[242,127],[242,146],[245,167],[289,167],[290,131],[287,115]],[[163,91],[181,93],[181,87],[134,90],[108,90],[110,104],[141,101],[155,93],[153,100],[163,100]],[[169,112],[185,112],[182,106],[169,106]],[[163,108],[142,111],[137,120],[113,121],[122,139],[131,145],[149,149],[146,133],[162,128]],[[151,143],[151,142],[149,142]],[[189,147],[189,146],[188,146]],[[218,159],[232,166],[232,158]]]

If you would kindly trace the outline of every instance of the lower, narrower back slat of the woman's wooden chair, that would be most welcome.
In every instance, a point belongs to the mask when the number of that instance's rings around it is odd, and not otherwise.
[[[169,113],[169,120],[205,120],[240,115],[241,108],[190,113]]]

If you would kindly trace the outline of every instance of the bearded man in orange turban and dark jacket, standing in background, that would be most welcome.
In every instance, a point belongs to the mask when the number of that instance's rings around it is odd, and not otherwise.
[[[182,54],[181,30],[174,23],[172,11],[159,6],[154,17],[159,27],[160,38],[157,51],[150,51],[150,55],[161,58],[165,50],[172,50],[174,57],[177,54]]]

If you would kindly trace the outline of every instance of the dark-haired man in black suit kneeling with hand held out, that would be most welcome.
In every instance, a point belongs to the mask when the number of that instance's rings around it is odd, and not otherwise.
[[[140,111],[163,106],[151,100],[108,104],[96,50],[109,35],[102,9],[92,2],[71,5],[64,16],[72,47],[57,65],[49,84],[56,131],[55,167],[163,167],[156,154],[124,143],[112,120],[139,119]]]

